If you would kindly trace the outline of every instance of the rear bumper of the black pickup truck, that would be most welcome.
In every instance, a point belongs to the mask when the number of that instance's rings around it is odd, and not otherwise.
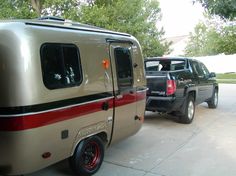
[[[158,112],[181,111],[183,100],[176,97],[147,96],[146,110]]]

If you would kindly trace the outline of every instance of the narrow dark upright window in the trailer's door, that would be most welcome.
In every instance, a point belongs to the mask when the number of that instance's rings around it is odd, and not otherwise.
[[[116,48],[114,51],[118,86],[120,88],[131,87],[133,85],[133,70],[130,50],[128,48]]]

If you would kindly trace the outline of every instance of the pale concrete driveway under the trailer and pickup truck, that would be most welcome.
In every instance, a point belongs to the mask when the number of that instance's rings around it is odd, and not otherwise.
[[[28,176],[70,176],[67,161]],[[236,85],[220,85],[219,106],[196,108],[192,124],[146,112],[142,129],[106,151],[95,176],[235,176]]]

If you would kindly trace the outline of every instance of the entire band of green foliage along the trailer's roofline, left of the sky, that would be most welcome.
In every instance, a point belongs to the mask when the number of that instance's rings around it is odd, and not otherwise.
[[[156,27],[161,17],[156,0],[6,0],[0,9],[0,19],[61,16],[129,33],[140,41],[145,56],[161,56],[169,51],[163,29]]]

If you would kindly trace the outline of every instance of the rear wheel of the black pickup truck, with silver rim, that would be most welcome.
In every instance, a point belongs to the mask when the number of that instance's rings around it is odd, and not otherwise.
[[[189,95],[187,98],[187,102],[185,104],[185,110],[184,113],[180,116],[180,122],[189,124],[193,121],[195,114],[195,104],[194,104],[194,98],[192,95]]]

